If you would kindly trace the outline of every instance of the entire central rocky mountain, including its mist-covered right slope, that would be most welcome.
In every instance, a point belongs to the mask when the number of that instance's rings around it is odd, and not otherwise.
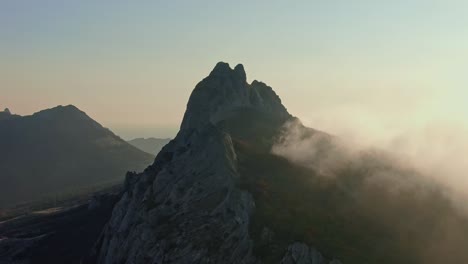
[[[289,144],[291,123],[301,140],[314,138],[313,159],[275,152]],[[176,138],[143,173],[127,175],[94,257],[466,263],[468,239],[459,234],[467,232],[442,188],[385,153],[342,152],[338,139],[292,117],[270,87],[248,84],[242,65],[218,63],[192,92]]]

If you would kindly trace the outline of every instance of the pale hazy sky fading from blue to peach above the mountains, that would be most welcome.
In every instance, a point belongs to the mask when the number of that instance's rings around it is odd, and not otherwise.
[[[3,0],[0,107],[74,104],[124,138],[172,136],[226,61],[318,128],[468,125],[467,3]]]

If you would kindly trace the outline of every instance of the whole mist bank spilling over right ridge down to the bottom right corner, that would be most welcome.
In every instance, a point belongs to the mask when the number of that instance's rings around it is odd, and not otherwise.
[[[359,178],[349,190],[353,210],[397,237],[412,230],[398,243],[413,248],[421,263],[465,263],[468,131],[441,122],[378,135],[375,129],[334,128],[327,132],[339,136],[288,122],[272,153],[327,179]]]

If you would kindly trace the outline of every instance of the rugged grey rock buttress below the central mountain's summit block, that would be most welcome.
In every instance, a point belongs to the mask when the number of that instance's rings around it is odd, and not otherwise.
[[[254,203],[235,187],[235,163],[230,137],[215,127],[180,133],[152,167],[127,177],[99,262],[252,263]]]

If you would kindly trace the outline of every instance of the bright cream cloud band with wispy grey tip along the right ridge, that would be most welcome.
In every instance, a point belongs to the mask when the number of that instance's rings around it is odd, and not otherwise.
[[[387,159],[400,167],[415,169],[447,187],[455,199],[468,197],[467,128],[431,121],[392,130],[372,120],[367,126],[353,126],[353,122],[340,120],[316,123],[317,128],[324,125],[325,131],[334,136],[312,133],[316,130],[305,129],[299,121],[289,122],[272,152],[329,176],[337,166],[357,162],[363,153],[385,153]]]

